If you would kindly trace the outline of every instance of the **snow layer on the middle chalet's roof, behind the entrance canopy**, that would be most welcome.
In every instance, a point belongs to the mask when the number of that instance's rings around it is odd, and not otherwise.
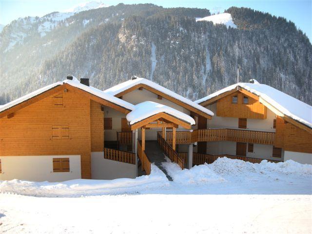
[[[169,90],[169,89],[166,89],[165,87],[159,85],[159,84],[156,84],[155,82],[151,81],[151,80],[148,80],[148,79],[145,79],[145,78],[136,78],[136,79],[130,79],[128,81],[125,81],[123,83],[120,83],[120,84],[117,84],[109,89],[106,89],[104,90],[103,92],[106,93],[106,94],[110,94],[112,96],[115,96],[127,89],[130,89],[132,88],[133,86],[136,86],[138,84],[145,84],[147,86],[150,86],[172,98],[175,98],[179,101],[182,101],[184,102],[185,104],[188,104],[192,107],[194,107],[195,109],[203,112],[203,113],[206,113],[207,115],[210,115],[210,116],[214,116],[214,113],[210,110],[208,110],[207,108],[201,106],[201,105],[198,105],[197,103],[195,103],[194,101],[191,101],[187,98],[184,98],[182,97],[181,95],[178,95],[176,94],[175,92]]]

